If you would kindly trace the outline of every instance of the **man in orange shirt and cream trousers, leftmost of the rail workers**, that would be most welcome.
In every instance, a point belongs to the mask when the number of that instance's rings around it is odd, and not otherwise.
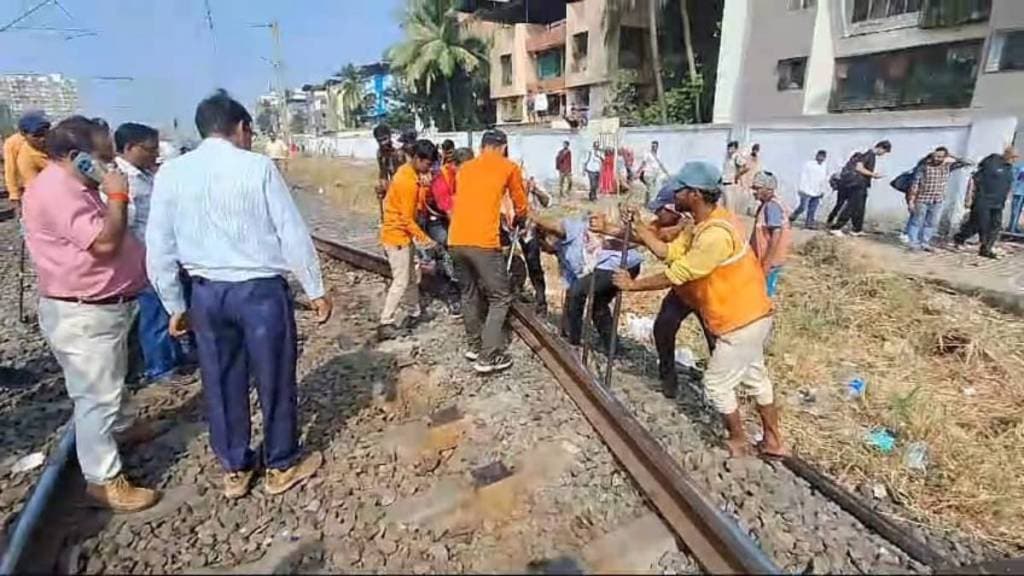
[[[384,196],[381,219],[381,244],[391,265],[391,285],[384,297],[378,337],[382,340],[398,335],[398,308],[404,301],[409,307],[403,327],[429,321],[429,313],[420,308],[420,274],[416,265],[415,244],[434,250],[437,244],[416,223],[417,209],[423,194],[420,176],[430,173],[437,149],[430,140],[418,140],[412,146],[410,161],[395,172]]]

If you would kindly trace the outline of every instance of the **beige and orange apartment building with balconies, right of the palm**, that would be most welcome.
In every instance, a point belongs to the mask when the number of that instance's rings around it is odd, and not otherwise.
[[[650,82],[646,1],[618,22],[608,0],[468,1],[492,42],[490,97],[499,124],[550,124],[573,113],[600,116],[617,74]],[[610,29],[610,32],[609,32]]]

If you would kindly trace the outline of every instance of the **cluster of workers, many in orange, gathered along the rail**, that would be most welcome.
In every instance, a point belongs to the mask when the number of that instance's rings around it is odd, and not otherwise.
[[[380,316],[379,335],[392,338],[430,318],[416,290],[415,259],[451,259],[442,282],[460,294],[461,305],[449,306],[461,316],[466,334],[466,359],[480,374],[512,365],[506,353],[506,318],[521,295],[515,262],[525,260],[534,283],[536,311],[547,312],[541,253],[558,262],[565,288],[560,332],[573,346],[586,343],[587,311],[598,345],[608,349],[615,330],[611,302],[622,291],[668,290],[655,322],[659,372],[666,396],[677,394],[675,337],[682,321],[695,314],[703,326],[712,361],[705,375],[709,398],[729,430],[729,448],[744,453],[736,388],[749,387],[764,423],[761,452],[781,456],[786,449],[778,428],[771,382],[764,366],[764,346],[772,325],[772,296],[790,243],[790,219],[776,196],[777,178],[758,169],[748,181],[757,203],[752,234],[724,206],[722,173],[707,162],[689,162],[674,176],[659,179],[647,204],[653,219],[637,207],[623,208],[623,221],[600,214],[554,217],[539,208],[548,195],[539,192],[521,166],[508,159],[508,138],[488,130],[478,156],[450,142],[438,148],[406,132],[398,147],[386,126],[378,126],[378,191],[382,201],[380,241],[388,256],[392,282]],[[641,164],[641,177],[668,174],[651,146]],[[584,162],[593,181],[599,179],[595,145]],[[752,163],[756,166],[756,163]],[[559,195],[571,175],[571,151],[564,142],[556,156]],[[646,180],[644,180],[646,184]],[[440,195],[438,195],[438,192]],[[738,202],[738,199],[737,199]],[[440,214],[438,219],[432,219]],[[442,232],[430,234],[425,227]],[[624,246],[624,230],[632,242]],[[642,250],[665,261],[665,273],[640,277]],[[521,253],[521,254],[520,254]],[[447,272],[451,270],[451,273]],[[406,303],[399,318],[399,308]],[[742,305],[736,305],[742,302]]]

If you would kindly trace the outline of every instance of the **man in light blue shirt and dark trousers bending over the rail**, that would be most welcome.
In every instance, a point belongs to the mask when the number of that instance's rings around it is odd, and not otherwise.
[[[550,218],[540,214],[530,214],[530,219],[537,223],[537,233],[541,249],[558,258],[558,271],[565,284],[565,302],[562,307],[561,333],[572,345],[583,341],[583,319],[587,307],[587,293],[591,280],[594,285],[594,307],[591,319],[597,328],[604,349],[607,349],[611,338],[612,319],[611,301],[618,294],[618,288],[611,283],[611,275],[620,270],[622,251],[613,245],[604,242],[617,242],[603,238],[588,238],[587,216],[568,218]],[[602,243],[594,250],[593,274],[587,265],[588,241]],[[597,246],[597,244],[595,244]],[[626,269],[634,278],[640,274],[643,256],[638,250],[631,249],[626,253]]]

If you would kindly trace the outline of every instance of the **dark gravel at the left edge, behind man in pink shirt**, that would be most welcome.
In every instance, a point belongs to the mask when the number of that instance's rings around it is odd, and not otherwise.
[[[18,224],[0,222],[0,527],[8,529],[43,466],[15,474],[12,467],[36,452],[48,454],[71,416],[60,370],[36,323],[33,275],[26,279],[29,322],[18,320]],[[31,271],[31,264],[26,265]]]

